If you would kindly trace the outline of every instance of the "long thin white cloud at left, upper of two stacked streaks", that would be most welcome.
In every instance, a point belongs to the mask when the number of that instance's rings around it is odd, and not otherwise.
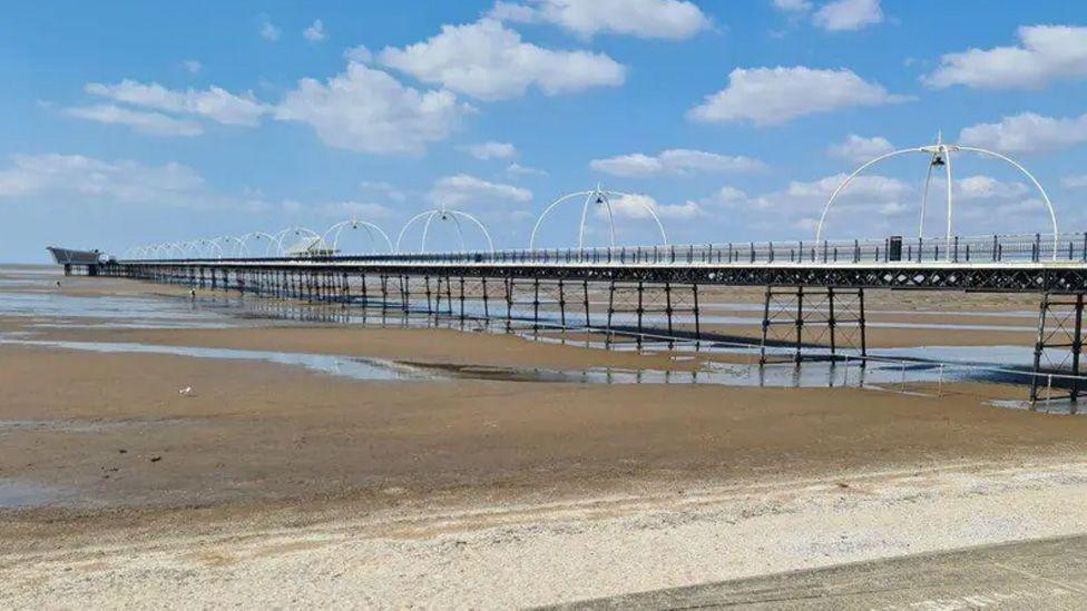
[[[255,126],[268,107],[252,95],[235,96],[219,87],[175,91],[157,82],[144,85],[125,79],[117,85],[90,82],[88,93],[114,101],[180,115],[196,115],[221,124]]]

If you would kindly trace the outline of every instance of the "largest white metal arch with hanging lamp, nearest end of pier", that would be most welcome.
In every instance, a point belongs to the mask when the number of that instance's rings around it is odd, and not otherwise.
[[[946,169],[947,181],[948,181],[948,186],[947,186],[948,226],[947,226],[947,236],[944,239],[947,240],[948,257],[950,257],[951,240],[953,239],[952,230],[953,230],[953,220],[954,220],[954,197],[953,197],[953,184],[952,184],[952,173],[951,173],[951,154],[959,152],[959,151],[976,152],[978,155],[992,157],[993,159],[1005,161],[1011,165],[1013,168],[1016,168],[1019,173],[1025,175],[1030,180],[1030,183],[1034,184],[1035,188],[1038,190],[1038,194],[1041,196],[1042,201],[1046,203],[1046,207],[1049,209],[1049,219],[1050,223],[1052,224],[1052,233],[1054,233],[1052,258],[1054,260],[1057,260],[1057,252],[1059,249],[1059,244],[1060,244],[1060,228],[1057,224],[1057,210],[1056,208],[1054,208],[1052,201],[1050,201],[1049,195],[1046,193],[1046,189],[1042,188],[1041,183],[1039,183],[1038,179],[1035,178],[1032,174],[1027,171],[1027,168],[1022,167],[1018,161],[1015,161],[1013,159],[1007,156],[980,147],[970,147],[964,145],[947,145],[943,144],[942,135],[937,136],[937,141],[934,145],[928,145],[928,146],[915,147],[915,148],[903,148],[903,149],[893,150],[891,152],[880,155],[879,157],[861,165],[859,168],[853,170],[852,174],[846,176],[845,180],[843,180],[842,184],[839,185],[836,189],[834,189],[834,193],[831,194],[830,199],[826,200],[826,205],[823,206],[823,213],[822,215],[820,215],[819,224],[815,226],[815,242],[817,243],[822,240],[823,226],[826,223],[826,214],[830,211],[831,206],[834,205],[834,200],[838,199],[838,196],[841,195],[841,193],[845,189],[846,186],[849,186],[850,183],[853,181],[854,178],[860,176],[860,174],[863,173],[865,169],[881,161],[885,161],[887,159],[890,159],[892,157],[898,157],[900,155],[907,155],[910,152],[920,152],[920,154],[929,155],[930,160],[929,160],[929,169],[924,178],[924,187],[921,189],[921,220],[918,224],[918,237],[919,238],[924,237],[924,211],[926,211],[926,205],[928,203],[928,197],[929,197],[929,181],[932,179],[932,168],[943,166]]]

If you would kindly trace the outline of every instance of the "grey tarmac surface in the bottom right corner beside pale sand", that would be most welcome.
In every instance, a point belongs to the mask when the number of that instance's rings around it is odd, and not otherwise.
[[[842,564],[558,609],[1087,609],[1087,535]]]

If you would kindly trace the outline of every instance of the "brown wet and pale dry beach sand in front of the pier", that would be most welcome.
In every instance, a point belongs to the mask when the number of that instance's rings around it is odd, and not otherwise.
[[[447,365],[698,366],[443,329],[0,323]],[[1087,529],[1087,420],[985,404],[1022,395],[1007,386],[378,382],[0,345],[0,483],[43,502],[0,509],[12,607],[507,608]]]

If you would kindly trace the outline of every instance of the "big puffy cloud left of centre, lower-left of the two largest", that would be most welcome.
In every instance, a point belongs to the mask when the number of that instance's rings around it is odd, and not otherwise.
[[[372,154],[420,155],[443,140],[471,108],[445,90],[404,87],[381,70],[351,62],[322,83],[302,79],[275,117],[312,126],[333,147]]]

